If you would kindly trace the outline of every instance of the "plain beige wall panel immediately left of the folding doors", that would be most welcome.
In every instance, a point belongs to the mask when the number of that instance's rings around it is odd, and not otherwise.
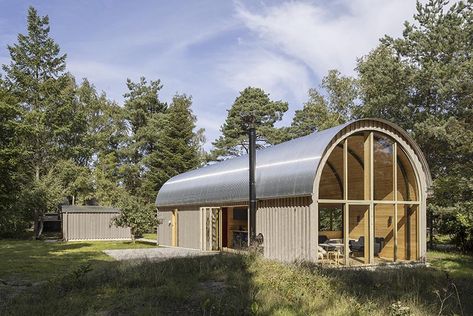
[[[199,209],[178,210],[178,243],[180,247],[199,249]]]

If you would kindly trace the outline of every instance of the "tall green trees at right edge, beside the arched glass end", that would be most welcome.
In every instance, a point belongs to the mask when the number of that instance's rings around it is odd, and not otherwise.
[[[359,61],[360,114],[412,133],[434,178],[430,211],[473,249],[473,4],[418,2],[414,19]]]

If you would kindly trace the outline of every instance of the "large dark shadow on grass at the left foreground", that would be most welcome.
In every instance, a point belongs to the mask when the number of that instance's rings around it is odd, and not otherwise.
[[[216,255],[82,266],[15,297],[0,314],[250,314],[248,260]]]

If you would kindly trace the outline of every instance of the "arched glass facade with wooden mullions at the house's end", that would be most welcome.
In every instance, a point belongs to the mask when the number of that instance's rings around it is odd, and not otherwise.
[[[418,259],[419,188],[401,144],[377,131],[339,141],[318,190],[319,253],[362,265]]]

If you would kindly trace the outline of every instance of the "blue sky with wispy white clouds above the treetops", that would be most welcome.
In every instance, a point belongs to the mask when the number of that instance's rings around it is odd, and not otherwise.
[[[238,92],[263,88],[289,102],[281,124],[329,69],[353,74],[356,58],[384,34],[399,36],[415,1],[112,1],[0,0],[0,63],[26,32],[33,5],[49,15],[68,70],[123,103],[126,78],[161,79],[161,99],[193,97],[207,145]]]

